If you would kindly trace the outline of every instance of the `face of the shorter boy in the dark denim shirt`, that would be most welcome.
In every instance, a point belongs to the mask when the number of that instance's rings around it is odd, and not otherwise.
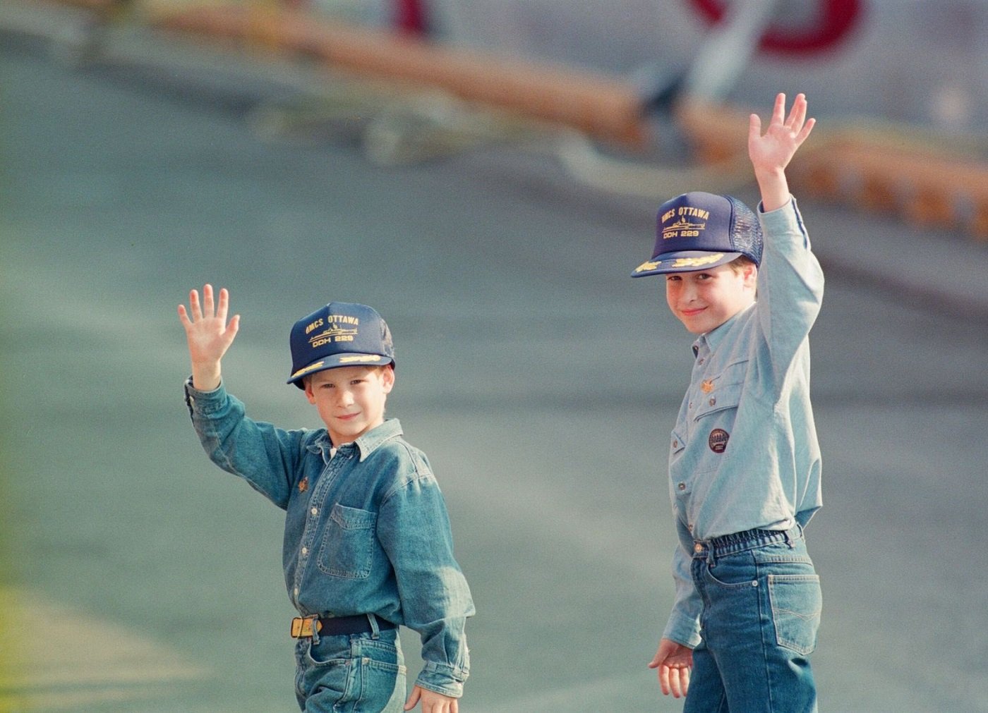
[[[384,402],[393,386],[390,367],[337,366],[307,378],[305,396],[338,446],[384,423]]]

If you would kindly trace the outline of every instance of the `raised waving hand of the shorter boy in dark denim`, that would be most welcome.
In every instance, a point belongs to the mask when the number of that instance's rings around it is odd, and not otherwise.
[[[199,291],[189,293],[189,310],[179,305],[179,321],[186,331],[189,358],[192,361],[193,386],[201,391],[211,391],[219,386],[220,359],[233,344],[240,329],[240,315],[234,315],[227,323],[229,292],[219,290],[218,303],[213,305],[212,285],[203,287],[203,303]]]

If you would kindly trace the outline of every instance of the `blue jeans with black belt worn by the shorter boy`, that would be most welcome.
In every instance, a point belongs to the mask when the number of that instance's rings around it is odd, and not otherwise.
[[[306,713],[400,713],[405,660],[397,629],[299,639],[295,697]]]

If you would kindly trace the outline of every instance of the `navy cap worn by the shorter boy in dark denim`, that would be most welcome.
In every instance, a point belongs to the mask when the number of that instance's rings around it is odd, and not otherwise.
[[[305,388],[302,378],[336,366],[394,365],[391,331],[366,304],[330,302],[291,328],[291,376],[288,383]]]

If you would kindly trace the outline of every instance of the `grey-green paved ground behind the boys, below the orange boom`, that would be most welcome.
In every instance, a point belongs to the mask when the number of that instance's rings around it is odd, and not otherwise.
[[[284,383],[291,323],[330,299],[387,319],[388,412],[436,468],[477,603],[461,710],[680,710],[645,668],[691,357],[659,283],[627,278],[654,201],[511,147],[382,168],[352,137],[265,141],[260,80],[72,70],[11,38],[0,61],[0,709],[293,709],[281,512],[206,461],[181,400],[175,307],[209,280],[243,316],[230,389],[288,427],[317,425]],[[988,334],[962,305],[988,256],[800,204],[829,268],[821,708],[988,710]],[[871,262],[919,241],[944,265]]]

